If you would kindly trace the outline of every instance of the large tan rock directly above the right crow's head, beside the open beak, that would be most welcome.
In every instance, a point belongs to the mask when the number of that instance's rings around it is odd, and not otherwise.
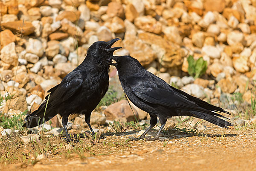
[[[136,58],[142,65],[150,64],[155,59],[153,50],[136,37],[130,37],[123,41],[125,49]]]

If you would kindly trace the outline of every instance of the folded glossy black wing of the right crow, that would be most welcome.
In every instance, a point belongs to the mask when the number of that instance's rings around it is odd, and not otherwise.
[[[169,84],[158,77],[150,77],[150,79],[148,77],[130,77],[126,79],[126,85],[135,96],[148,103],[224,117],[200,107],[195,101],[190,100],[175,89],[170,89]]]

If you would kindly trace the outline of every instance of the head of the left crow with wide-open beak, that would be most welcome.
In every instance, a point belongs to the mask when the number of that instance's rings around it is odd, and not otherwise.
[[[111,56],[113,55],[113,52],[117,49],[120,49],[122,47],[112,47],[111,46],[116,42],[120,40],[119,38],[112,39],[111,41],[97,41],[93,43],[88,51],[86,60],[93,61],[94,63],[105,65],[111,64]]]

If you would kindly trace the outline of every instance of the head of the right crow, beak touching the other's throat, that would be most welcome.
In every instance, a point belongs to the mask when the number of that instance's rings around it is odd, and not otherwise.
[[[119,72],[119,74],[138,72],[143,69],[140,62],[131,56],[112,56],[111,57],[116,63],[112,63]]]

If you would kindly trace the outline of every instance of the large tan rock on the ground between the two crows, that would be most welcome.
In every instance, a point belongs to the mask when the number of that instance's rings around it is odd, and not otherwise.
[[[139,119],[139,115],[136,109],[133,108],[133,110],[131,110],[126,100],[121,100],[119,102],[109,105],[104,110],[104,114],[107,120],[114,120],[125,117],[127,119],[127,122],[130,122],[136,121],[135,117]]]

